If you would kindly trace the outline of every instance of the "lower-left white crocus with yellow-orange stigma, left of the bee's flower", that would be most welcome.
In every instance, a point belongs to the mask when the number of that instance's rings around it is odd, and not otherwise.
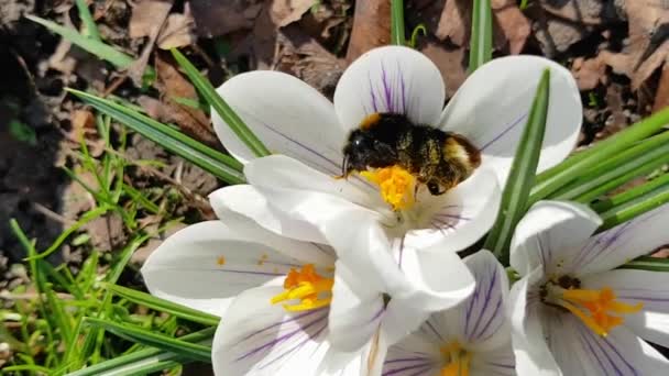
[[[380,338],[402,338],[423,321],[402,299],[387,303],[383,287],[351,273],[331,247],[216,209],[224,221],[168,237],[142,276],[153,295],[222,317],[218,375],[363,375]]]

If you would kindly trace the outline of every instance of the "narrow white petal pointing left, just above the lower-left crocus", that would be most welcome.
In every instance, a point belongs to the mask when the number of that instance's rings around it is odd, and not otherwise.
[[[252,219],[259,225],[276,234],[305,242],[325,243],[318,229],[306,221],[296,220],[275,210],[266,196],[250,185],[220,188],[209,195],[211,207],[218,218],[230,217],[230,212]]]

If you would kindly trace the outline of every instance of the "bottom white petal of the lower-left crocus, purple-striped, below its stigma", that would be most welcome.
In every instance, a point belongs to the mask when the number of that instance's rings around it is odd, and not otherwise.
[[[270,299],[281,286],[248,290],[230,306],[216,331],[217,375],[315,375],[328,352],[328,309],[287,313]]]

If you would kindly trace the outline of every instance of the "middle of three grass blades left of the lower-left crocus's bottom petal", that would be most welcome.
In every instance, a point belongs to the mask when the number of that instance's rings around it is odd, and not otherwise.
[[[86,322],[105,329],[128,341],[139,342],[149,346],[191,358],[199,362],[211,362],[211,347],[197,343],[174,339],[165,334],[151,332],[139,327],[120,324],[112,321],[86,318]]]

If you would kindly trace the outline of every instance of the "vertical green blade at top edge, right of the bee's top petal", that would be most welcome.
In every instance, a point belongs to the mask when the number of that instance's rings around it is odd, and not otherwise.
[[[469,71],[493,58],[493,11],[491,0],[474,0],[472,36],[469,48]]]

